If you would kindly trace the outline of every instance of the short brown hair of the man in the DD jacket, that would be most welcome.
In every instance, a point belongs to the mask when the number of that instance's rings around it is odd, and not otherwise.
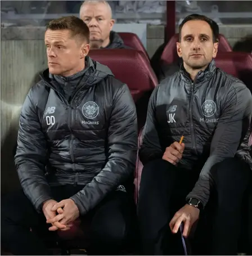
[[[75,16],[60,17],[59,19],[51,20],[47,24],[46,30],[61,30],[68,29],[71,31],[73,37],[78,35],[83,37],[89,43],[89,28],[83,20]]]

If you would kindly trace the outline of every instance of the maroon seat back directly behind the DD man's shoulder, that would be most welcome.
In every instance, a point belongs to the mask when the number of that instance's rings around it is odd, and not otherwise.
[[[158,79],[141,51],[131,49],[91,50],[89,56],[110,68],[115,78],[126,83],[137,107],[138,128],[145,124],[150,94]]]

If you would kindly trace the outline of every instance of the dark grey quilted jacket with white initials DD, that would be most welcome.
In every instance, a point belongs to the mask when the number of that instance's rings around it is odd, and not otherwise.
[[[38,212],[52,199],[51,186],[83,185],[71,199],[85,214],[133,177],[137,118],[131,92],[107,66],[89,57],[86,63],[66,78],[45,70],[21,110],[15,163]]]

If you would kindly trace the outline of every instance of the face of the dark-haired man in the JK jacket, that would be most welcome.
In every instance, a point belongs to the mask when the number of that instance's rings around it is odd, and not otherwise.
[[[192,69],[205,68],[216,57],[217,51],[218,43],[213,43],[213,32],[206,21],[190,20],[183,25],[177,52],[184,64]]]

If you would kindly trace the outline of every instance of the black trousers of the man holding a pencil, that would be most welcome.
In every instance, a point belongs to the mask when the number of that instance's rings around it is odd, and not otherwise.
[[[250,168],[230,158],[215,165],[214,174],[215,187],[200,212],[192,250],[194,254],[236,255]],[[144,255],[184,254],[181,233],[172,234],[169,222],[186,204],[198,178],[199,172],[179,169],[165,160],[143,167],[137,214]]]

